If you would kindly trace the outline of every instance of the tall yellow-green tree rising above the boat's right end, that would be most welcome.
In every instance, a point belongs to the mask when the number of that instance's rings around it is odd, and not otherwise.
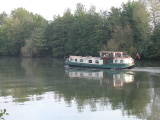
[[[135,52],[142,53],[142,45],[149,36],[149,13],[141,2],[129,2],[123,5],[123,13],[133,31]]]

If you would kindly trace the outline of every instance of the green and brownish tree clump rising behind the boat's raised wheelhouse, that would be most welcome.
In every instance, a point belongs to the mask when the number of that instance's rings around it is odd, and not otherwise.
[[[142,3],[128,2],[121,9],[112,8],[108,21],[112,37],[107,49],[127,51],[132,55],[141,52],[149,31],[149,14]]]

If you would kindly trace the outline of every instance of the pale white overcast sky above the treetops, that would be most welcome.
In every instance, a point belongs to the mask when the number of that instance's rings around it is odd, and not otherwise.
[[[70,8],[75,10],[77,3],[82,3],[87,9],[96,6],[96,10],[109,10],[112,6],[120,7],[128,0],[1,0],[0,12],[10,12],[16,8],[23,7],[30,12],[42,15],[47,20],[52,20],[54,15],[62,15]]]

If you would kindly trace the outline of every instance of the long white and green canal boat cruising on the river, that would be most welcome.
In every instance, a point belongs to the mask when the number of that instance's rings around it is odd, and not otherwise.
[[[99,57],[69,56],[66,65],[102,69],[125,69],[135,66],[134,59],[125,52],[100,51]]]

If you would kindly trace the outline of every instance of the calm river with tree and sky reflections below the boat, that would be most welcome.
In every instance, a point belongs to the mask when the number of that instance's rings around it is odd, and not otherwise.
[[[160,63],[129,70],[65,68],[51,58],[0,58],[5,120],[158,120]]]

